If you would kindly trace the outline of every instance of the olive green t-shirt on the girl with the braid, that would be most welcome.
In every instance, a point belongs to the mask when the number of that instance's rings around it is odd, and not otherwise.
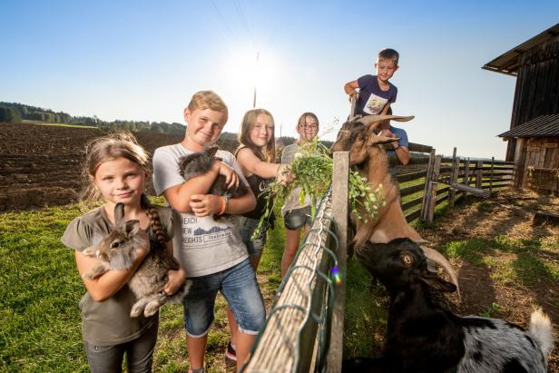
[[[166,240],[171,240],[172,211],[168,207],[156,207],[162,221]],[[90,246],[96,246],[103,237],[113,229],[113,223],[106,216],[103,207],[93,209],[85,215],[75,218],[66,227],[62,236],[62,243],[68,248],[83,251]],[[157,237],[152,228],[147,230],[150,245],[153,248]],[[82,310],[82,334],[88,343],[98,346],[121,344],[138,338],[142,332],[156,322],[159,314],[150,318],[143,315],[138,318],[130,317],[130,310],[136,298],[132,290],[124,285],[113,297],[98,302],[86,292],[80,300]]]

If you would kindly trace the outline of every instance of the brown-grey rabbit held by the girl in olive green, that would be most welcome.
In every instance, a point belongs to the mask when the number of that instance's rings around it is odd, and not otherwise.
[[[87,248],[83,254],[101,260],[83,274],[84,278],[94,279],[107,270],[127,270],[136,260],[136,248],[143,247],[150,250],[144,235],[138,234],[140,221],[124,221],[124,204],[114,206],[114,226],[99,243],[97,250]],[[165,247],[158,240],[152,241],[152,249],[148,252],[142,264],[136,270],[128,286],[136,296],[136,303],[132,306],[132,318],[143,315],[152,316],[164,303],[179,304],[191,287],[191,280],[186,282],[172,295],[162,292],[169,280],[169,270],[179,270],[179,262],[167,253]]]

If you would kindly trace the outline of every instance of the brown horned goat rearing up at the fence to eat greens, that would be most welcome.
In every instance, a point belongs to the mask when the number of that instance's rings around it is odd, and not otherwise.
[[[388,158],[384,144],[394,142],[395,139],[373,133],[375,123],[386,120],[407,122],[413,118],[413,116],[374,115],[348,120],[348,122],[342,125],[338,133],[338,139],[332,145],[332,152],[349,152],[349,164],[356,167],[367,178],[373,191],[379,185],[382,186],[381,193],[385,204],[378,208],[375,218],[367,222],[352,218],[356,226],[352,245],[357,250],[363,247],[367,241],[371,243],[388,243],[398,238],[407,238],[417,244],[426,242],[407,223],[404,211],[402,211],[400,205],[397,185],[392,181],[388,168]],[[362,215],[365,213],[365,211],[361,212]],[[446,270],[452,282],[458,288],[456,274],[448,261],[436,250],[424,246],[421,249],[424,250],[429,259],[434,260]]]

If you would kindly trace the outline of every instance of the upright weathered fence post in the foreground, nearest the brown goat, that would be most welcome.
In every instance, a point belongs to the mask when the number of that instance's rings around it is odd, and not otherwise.
[[[349,152],[334,152],[332,172],[332,211],[338,236],[338,273],[342,279],[334,290],[334,310],[330,348],[327,358],[328,372],[341,371],[344,351],[344,307],[346,302],[346,280],[348,263],[348,188]]]

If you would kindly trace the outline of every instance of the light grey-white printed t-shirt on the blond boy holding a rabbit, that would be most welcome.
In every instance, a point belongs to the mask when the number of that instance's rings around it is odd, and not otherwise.
[[[153,153],[153,188],[157,195],[184,182],[179,172],[179,159],[192,152],[181,143],[163,146]],[[217,157],[240,176],[248,186],[239,164],[230,152],[218,151]],[[227,270],[248,258],[247,248],[239,234],[236,215],[223,216],[214,221],[213,216],[197,217],[192,213],[174,211],[175,258],[181,262],[187,277],[200,277]]]

